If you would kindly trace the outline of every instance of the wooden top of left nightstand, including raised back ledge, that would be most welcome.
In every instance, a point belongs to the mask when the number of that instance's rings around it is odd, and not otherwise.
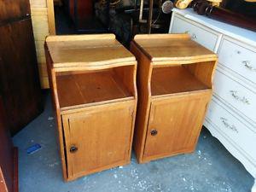
[[[53,67],[102,67],[136,61],[113,34],[49,36],[45,44]]]

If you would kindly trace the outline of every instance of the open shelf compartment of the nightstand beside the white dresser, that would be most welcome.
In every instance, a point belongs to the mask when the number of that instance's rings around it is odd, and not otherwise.
[[[212,67],[214,62],[154,67],[151,77],[151,94],[155,97],[211,90]]]

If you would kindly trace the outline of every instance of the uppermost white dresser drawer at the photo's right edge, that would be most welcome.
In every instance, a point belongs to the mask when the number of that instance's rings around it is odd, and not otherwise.
[[[256,52],[253,50],[224,38],[218,52],[218,61],[224,67],[256,84]]]

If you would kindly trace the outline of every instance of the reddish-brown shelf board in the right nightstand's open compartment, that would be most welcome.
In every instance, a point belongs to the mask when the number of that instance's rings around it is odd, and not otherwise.
[[[209,90],[206,84],[201,83],[192,73],[182,67],[154,68],[151,80],[152,96]]]

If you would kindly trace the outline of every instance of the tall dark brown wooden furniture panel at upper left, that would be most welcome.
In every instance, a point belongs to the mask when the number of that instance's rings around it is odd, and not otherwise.
[[[0,94],[12,134],[42,112],[28,0],[0,1]]]

